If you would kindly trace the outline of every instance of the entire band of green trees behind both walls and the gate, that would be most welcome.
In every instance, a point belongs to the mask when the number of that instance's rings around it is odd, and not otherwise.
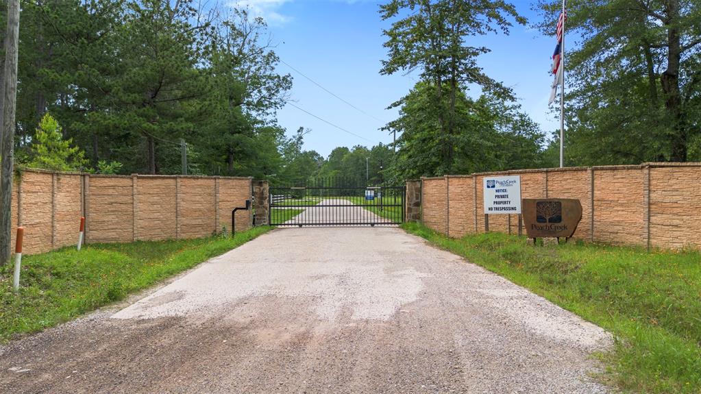
[[[543,17],[534,26],[553,35],[561,2],[534,1]],[[700,8],[568,2],[566,165],[701,161]],[[511,2],[388,0],[379,14],[388,23],[379,72],[419,78],[388,103],[399,116],[382,130],[396,144],[323,157],[304,148],[307,129],[289,137],[276,121],[292,77],[276,70],[261,18],[196,0],[23,1],[16,156],[51,167],[55,157],[39,151],[70,141],[84,152],[71,168],[175,174],[184,140],[191,174],[278,183],[557,165],[557,135],[480,65],[490,48],[478,37],[526,24]],[[46,114],[60,135],[37,128]]]

